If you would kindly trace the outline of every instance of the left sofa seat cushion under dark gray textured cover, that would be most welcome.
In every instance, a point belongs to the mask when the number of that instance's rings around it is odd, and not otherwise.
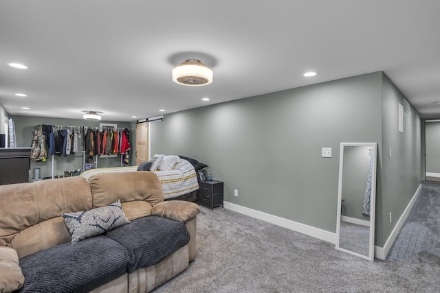
[[[89,292],[126,273],[129,254],[104,236],[66,242],[20,260],[20,292]]]

